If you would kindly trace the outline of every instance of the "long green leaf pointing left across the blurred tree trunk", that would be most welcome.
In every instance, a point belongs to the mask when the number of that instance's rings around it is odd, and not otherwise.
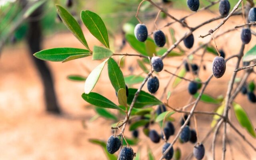
[[[70,56],[78,55],[83,55],[83,57],[85,57],[90,56],[91,54],[90,51],[80,48],[52,48],[48,50],[41,50],[34,54],[34,56],[40,60],[48,60],[54,62],[63,61]]]

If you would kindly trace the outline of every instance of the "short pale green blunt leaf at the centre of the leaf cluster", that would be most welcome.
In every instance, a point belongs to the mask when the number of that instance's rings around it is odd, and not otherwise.
[[[93,47],[92,60],[102,60],[105,58],[109,58],[112,55],[113,55],[113,52],[108,48],[104,48],[100,46]]]

